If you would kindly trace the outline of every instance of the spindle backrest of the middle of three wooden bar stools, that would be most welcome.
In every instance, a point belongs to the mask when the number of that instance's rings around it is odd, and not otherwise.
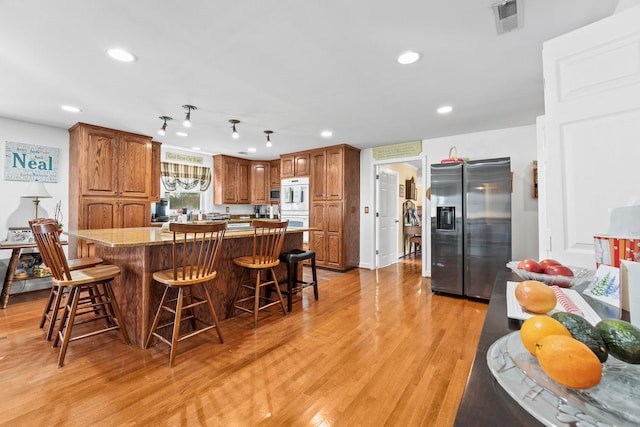
[[[173,280],[200,282],[205,277],[215,276],[226,229],[226,222],[169,224],[169,230],[173,232]]]

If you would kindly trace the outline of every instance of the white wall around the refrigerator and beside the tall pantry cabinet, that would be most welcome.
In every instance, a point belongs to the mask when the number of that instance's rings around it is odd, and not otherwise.
[[[455,146],[459,157],[469,159],[489,159],[511,157],[513,172],[512,211],[512,259],[536,258],[538,255],[538,202],[532,197],[532,164],[536,160],[536,126],[499,129],[422,141],[422,155],[427,163],[439,163],[449,157],[449,149]],[[388,161],[387,161],[388,162]],[[373,180],[376,162],[372,150],[362,150],[360,155],[360,267],[375,268],[375,182]],[[424,173],[428,174],[426,168]],[[424,178],[423,189],[429,187],[430,176]],[[364,208],[369,207],[369,214]],[[423,206],[429,215],[430,207]],[[429,221],[426,221],[429,228]],[[427,258],[429,258],[430,230],[427,229]],[[424,272],[430,275],[430,261]]]

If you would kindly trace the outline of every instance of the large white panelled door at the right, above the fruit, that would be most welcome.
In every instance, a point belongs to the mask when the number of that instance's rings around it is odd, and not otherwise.
[[[609,209],[640,194],[640,6],[543,46],[540,258],[595,269]]]

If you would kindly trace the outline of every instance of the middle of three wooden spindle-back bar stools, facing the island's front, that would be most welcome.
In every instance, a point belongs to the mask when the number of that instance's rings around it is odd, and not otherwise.
[[[215,279],[218,275],[216,264],[226,229],[226,222],[169,224],[169,230],[173,232],[173,268],[153,274],[153,280],[162,283],[165,290],[144,345],[145,348],[148,348],[153,336],[169,345],[169,367],[173,366],[178,343],[182,340],[215,328],[220,342],[224,342],[218,316],[211,302],[211,295],[204,284]],[[204,297],[193,295],[192,288],[196,285],[202,289]],[[177,296],[170,299],[169,290],[174,288],[178,290]],[[203,304],[206,304],[209,309],[210,320],[199,317],[196,313],[195,308]],[[172,313],[173,319],[159,325],[164,311]],[[182,315],[183,312],[186,312],[185,317]],[[180,335],[182,322],[186,320],[191,321],[191,330]],[[198,328],[199,324],[202,325],[200,328]],[[171,338],[167,339],[158,331],[169,326],[173,326],[173,328]]]

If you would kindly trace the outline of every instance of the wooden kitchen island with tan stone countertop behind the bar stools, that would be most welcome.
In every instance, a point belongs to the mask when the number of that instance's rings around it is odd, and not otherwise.
[[[282,251],[302,248],[303,228],[289,228]],[[66,233],[71,239],[87,240],[95,244],[95,256],[120,267],[113,289],[127,332],[139,346],[149,332],[152,317],[162,298],[164,286],[153,283],[153,273],[172,267],[173,234],[159,227],[75,230]],[[233,263],[239,256],[251,254],[252,229],[229,229],[220,248],[218,277],[206,284],[220,320],[232,317],[233,299],[242,268]],[[286,276],[285,266],[276,269],[278,280]]]

